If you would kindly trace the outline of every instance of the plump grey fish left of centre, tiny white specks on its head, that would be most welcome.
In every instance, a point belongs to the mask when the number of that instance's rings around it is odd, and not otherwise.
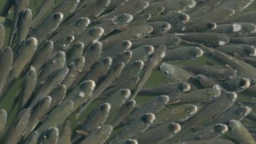
[[[42,71],[38,75],[37,83],[45,83],[54,72],[64,67],[66,63],[66,54],[63,51],[59,51],[42,67]]]

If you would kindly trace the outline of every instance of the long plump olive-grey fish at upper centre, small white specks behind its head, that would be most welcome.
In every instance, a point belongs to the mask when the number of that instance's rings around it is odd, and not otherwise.
[[[102,40],[101,43],[104,48],[107,48],[122,40],[138,40],[142,37],[145,37],[146,35],[149,35],[152,31],[153,28],[151,26],[141,24],[139,26],[132,27],[118,34],[111,35],[106,39]]]

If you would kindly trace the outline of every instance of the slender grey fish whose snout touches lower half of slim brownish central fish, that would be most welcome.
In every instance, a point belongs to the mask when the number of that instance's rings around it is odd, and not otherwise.
[[[108,96],[109,94],[111,94],[121,88],[132,88],[138,82],[139,82],[139,77],[132,77],[129,80],[112,85],[110,88],[107,88],[106,91],[102,92],[100,94],[100,96]]]

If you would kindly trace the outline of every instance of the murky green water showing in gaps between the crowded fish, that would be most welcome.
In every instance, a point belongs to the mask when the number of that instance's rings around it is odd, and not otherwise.
[[[8,0],[0,0],[0,11],[3,10],[5,3],[7,3]],[[61,0],[57,0],[56,1],[56,5],[58,3],[60,3]],[[30,8],[32,10],[32,13],[35,14],[38,10],[39,10],[39,6],[42,3],[42,0],[30,0],[29,2],[29,6],[28,8]],[[251,4],[248,8],[246,8],[244,11],[241,12],[237,12],[235,15],[239,15],[241,13],[246,13],[248,11],[253,11],[256,8],[256,1],[253,2],[253,4]],[[48,12],[48,15],[51,14],[51,10]],[[7,43],[9,41],[9,37],[10,37],[10,31],[11,31],[11,20],[13,17],[13,11],[11,11],[8,16],[7,19],[4,23],[5,26],[5,31],[6,31],[6,35],[5,35],[5,46],[7,46]],[[171,64],[197,64],[197,65],[201,65],[201,64],[205,64],[205,61],[208,60],[206,59],[204,56],[200,57],[199,59],[193,60],[193,61],[172,61],[170,62]],[[17,82],[15,83],[15,85],[12,86],[12,88],[10,89],[10,91],[8,92],[6,98],[1,101],[0,103],[0,109],[5,109],[8,112],[8,121],[7,121],[7,126],[10,125],[10,123],[13,121],[14,117],[16,116],[16,112],[17,112],[17,106],[14,109],[11,109],[11,105],[13,104],[15,95],[17,93],[17,91],[19,91],[19,88],[21,86],[23,78],[19,78],[19,80],[17,80]],[[160,71],[154,71],[152,73],[152,75],[150,76],[149,80],[147,81],[147,83],[144,85],[144,87],[152,87],[155,85],[159,85],[163,82],[167,82],[168,78],[165,77],[165,75],[162,74],[162,72]],[[146,102],[149,99],[152,99],[153,96],[137,96],[136,97],[136,103],[140,103],[140,102]],[[239,100],[246,100],[246,101],[251,101],[252,97],[245,95],[243,93],[239,93]],[[72,123],[72,128],[75,128],[77,126],[77,123],[84,120],[86,115],[88,115],[88,112],[90,112],[92,109],[94,109],[95,107],[98,107],[99,104],[101,104],[102,100],[96,100],[95,102],[93,102],[93,104],[90,105],[90,107],[88,107],[87,111],[85,111],[83,113],[83,115],[78,119],[75,120],[75,118],[73,117],[73,115],[71,115],[69,117],[69,120],[71,120]],[[110,117],[111,119],[111,117]],[[116,131],[114,131],[112,133],[112,136],[114,136],[116,133],[118,133],[120,131],[120,129],[117,129]],[[111,137],[112,137],[111,136]],[[231,136],[230,133],[227,133],[225,136],[228,136],[226,138],[229,139],[229,137]],[[225,138],[225,136],[223,136]],[[174,138],[172,139],[172,141],[175,141],[178,138]],[[233,140],[233,139],[232,139]]]

